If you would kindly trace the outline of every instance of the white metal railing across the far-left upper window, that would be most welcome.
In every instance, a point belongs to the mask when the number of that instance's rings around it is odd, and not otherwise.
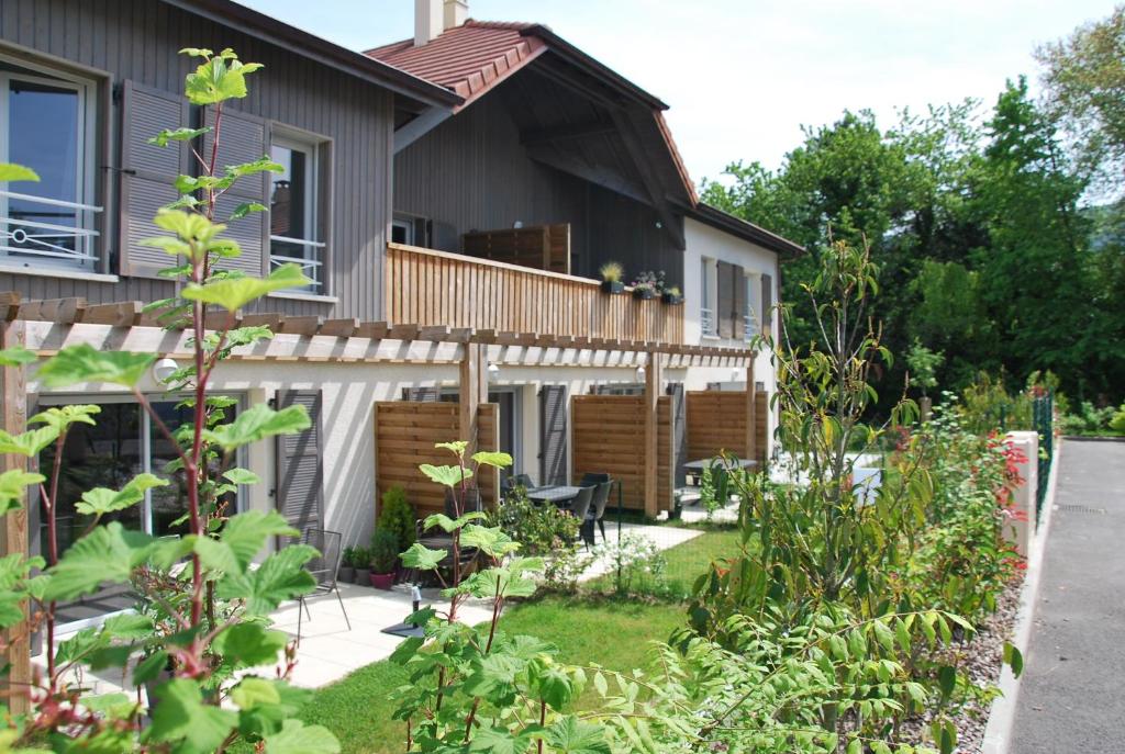
[[[14,201],[43,205],[44,209],[14,210]],[[93,244],[99,234],[92,226],[93,215],[100,212],[101,207],[15,191],[0,191],[0,206],[4,208],[0,216],[0,252],[4,256],[38,256],[79,266],[92,266],[98,258]],[[30,217],[72,218],[74,225],[28,219]]]

